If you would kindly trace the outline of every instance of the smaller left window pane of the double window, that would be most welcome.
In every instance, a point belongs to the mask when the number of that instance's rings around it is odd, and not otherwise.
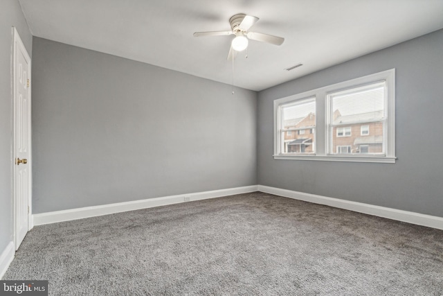
[[[280,153],[314,153],[315,98],[280,105],[280,127]],[[307,133],[306,130],[312,130],[312,132]]]

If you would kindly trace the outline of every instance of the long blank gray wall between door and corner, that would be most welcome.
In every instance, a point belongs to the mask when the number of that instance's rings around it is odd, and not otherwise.
[[[33,212],[257,184],[257,94],[34,37]]]

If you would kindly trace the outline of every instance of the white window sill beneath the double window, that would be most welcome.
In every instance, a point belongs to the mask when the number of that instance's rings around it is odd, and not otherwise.
[[[319,156],[319,155],[273,155],[274,159],[291,160],[320,160],[324,162],[376,162],[380,164],[395,164],[397,157],[379,156]]]

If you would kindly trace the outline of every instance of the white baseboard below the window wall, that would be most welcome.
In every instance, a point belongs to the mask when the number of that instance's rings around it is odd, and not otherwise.
[[[357,211],[363,214],[389,218],[402,222],[443,229],[443,218],[431,215],[418,214],[413,211],[402,211],[399,209],[391,209],[388,207],[379,207],[372,204],[364,204],[362,202],[351,202],[349,200],[340,200],[338,198],[328,198],[326,196],[302,193],[287,189],[279,189],[275,187],[258,185],[258,191],[280,195],[285,198],[293,198],[295,200],[304,200],[305,202],[314,202],[316,204],[325,204],[330,207]]]

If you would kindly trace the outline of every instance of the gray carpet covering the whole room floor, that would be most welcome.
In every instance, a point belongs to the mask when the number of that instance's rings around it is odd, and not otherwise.
[[[443,231],[248,193],[34,227],[50,295],[443,295]]]

